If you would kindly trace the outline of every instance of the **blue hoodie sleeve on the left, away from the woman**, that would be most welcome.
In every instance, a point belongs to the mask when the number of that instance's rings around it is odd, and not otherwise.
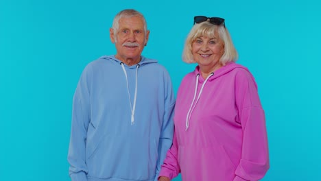
[[[87,66],[78,82],[73,96],[71,137],[68,162],[69,176],[73,181],[86,181],[86,134],[91,117],[90,106],[91,69]]]

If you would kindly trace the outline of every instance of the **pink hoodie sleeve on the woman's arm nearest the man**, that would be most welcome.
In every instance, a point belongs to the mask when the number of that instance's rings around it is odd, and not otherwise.
[[[159,176],[173,179],[178,176],[178,173],[180,173],[180,165],[178,164],[178,143],[174,132],[173,145],[171,145],[171,149],[169,149],[166,154]]]

